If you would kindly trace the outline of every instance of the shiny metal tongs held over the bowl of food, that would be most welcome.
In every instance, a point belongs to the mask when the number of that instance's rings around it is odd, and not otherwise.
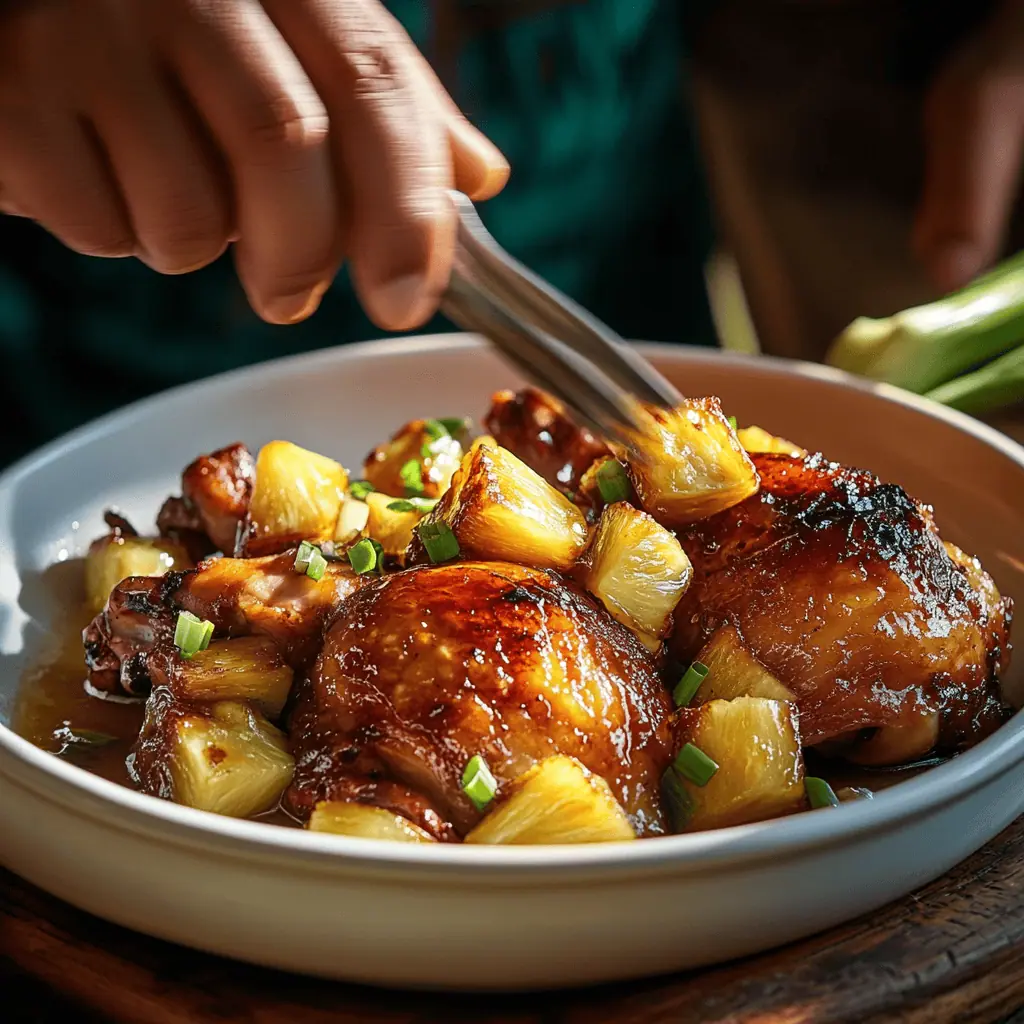
[[[523,375],[598,435],[631,445],[640,403],[673,409],[679,392],[613,331],[514,260],[462,193],[455,262],[441,312],[483,335]]]

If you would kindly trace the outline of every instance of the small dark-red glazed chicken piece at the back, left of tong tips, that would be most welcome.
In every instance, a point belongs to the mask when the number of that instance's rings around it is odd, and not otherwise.
[[[584,473],[611,454],[561,402],[537,388],[499,391],[490,399],[484,427],[502,447],[573,499]]]

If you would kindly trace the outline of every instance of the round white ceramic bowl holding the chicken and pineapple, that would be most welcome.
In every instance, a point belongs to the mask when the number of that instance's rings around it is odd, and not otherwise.
[[[648,352],[685,392],[933,503],[946,538],[1024,598],[1018,445],[821,368]],[[0,715],[68,601],[43,570],[102,532],[108,504],[152,522],[197,453],[236,439],[285,437],[354,466],[401,422],[482,415],[517,383],[466,339],[355,345],[158,396],[14,467],[0,478]],[[1022,761],[1017,716],[837,811],[603,847],[410,847],[176,807],[0,727],[0,860],[102,918],[257,964],[402,986],[570,985],[752,953],[902,896],[1024,809]]]

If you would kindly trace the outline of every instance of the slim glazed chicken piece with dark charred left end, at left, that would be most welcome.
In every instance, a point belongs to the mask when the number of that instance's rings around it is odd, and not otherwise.
[[[328,618],[360,578],[347,562],[329,562],[314,581],[296,572],[294,562],[294,552],[210,558],[195,569],[122,581],[83,635],[89,684],[112,694],[147,693],[166,675],[182,610],[212,622],[218,637],[268,637],[291,666],[305,667],[319,651]]]

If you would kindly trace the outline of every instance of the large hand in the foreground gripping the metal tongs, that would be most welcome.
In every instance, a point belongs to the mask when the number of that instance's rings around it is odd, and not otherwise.
[[[371,318],[419,327],[446,189],[507,176],[377,0],[0,4],[0,208],[162,273],[233,242],[271,323],[310,315],[345,258]]]

